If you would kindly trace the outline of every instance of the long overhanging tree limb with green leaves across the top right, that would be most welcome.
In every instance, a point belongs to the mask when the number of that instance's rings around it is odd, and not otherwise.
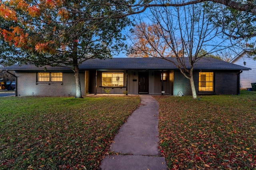
[[[126,15],[140,14],[148,8],[182,7],[192,4],[204,4],[209,14],[208,19],[222,27],[222,33],[230,38],[247,41],[256,37],[256,0],[138,0],[134,4],[127,4],[132,10]],[[252,41],[242,46],[248,48],[254,43],[255,41]]]

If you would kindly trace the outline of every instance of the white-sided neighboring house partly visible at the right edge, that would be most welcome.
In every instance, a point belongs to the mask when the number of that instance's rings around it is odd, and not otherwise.
[[[240,88],[242,89],[252,88],[251,83],[256,83],[256,60],[249,53],[250,51],[244,50],[230,61],[230,63],[251,68],[240,74]]]

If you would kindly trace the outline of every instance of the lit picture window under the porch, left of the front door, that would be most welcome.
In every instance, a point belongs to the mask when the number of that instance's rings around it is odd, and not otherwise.
[[[124,73],[102,72],[102,86],[124,86]]]

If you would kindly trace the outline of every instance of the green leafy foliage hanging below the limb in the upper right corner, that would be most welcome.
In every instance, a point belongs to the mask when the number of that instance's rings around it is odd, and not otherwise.
[[[255,8],[256,5],[256,1],[244,1],[243,3],[248,3],[250,8]],[[213,2],[206,2],[204,5],[209,14],[208,19],[222,27],[225,35],[232,39],[250,39],[256,36],[256,16],[250,10],[239,11]]]

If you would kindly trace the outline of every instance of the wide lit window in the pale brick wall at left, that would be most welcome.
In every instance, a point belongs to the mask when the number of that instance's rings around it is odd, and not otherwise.
[[[62,72],[38,72],[38,82],[62,82]]]

